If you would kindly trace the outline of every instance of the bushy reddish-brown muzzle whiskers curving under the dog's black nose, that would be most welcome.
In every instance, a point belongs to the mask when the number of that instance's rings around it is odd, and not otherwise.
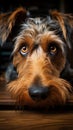
[[[67,81],[63,79],[58,79],[58,82],[51,80],[49,82],[49,84],[51,84],[50,92],[47,98],[44,100],[33,100],[28,93],[28,89],[16,86],[16,82],[16,80],[12,81],[8,85],[8,91],[10,91],[12,97],[15,98],[16,104],[22,107],[24,106],[24,108],[27,106],[28,108],[34,109],[48,109],[55,108],[56,106],[64,106],[71,92],[71,86]],[[19,89],[17,90],[17,88]]]

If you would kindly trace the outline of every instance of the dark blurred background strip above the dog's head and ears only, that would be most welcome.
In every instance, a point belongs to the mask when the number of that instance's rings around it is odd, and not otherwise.
[[[23,6],[31,10],[57,9],[62,12],[73,12],[72,0],[0,0],[0,12],[13,10],[16,7]]]

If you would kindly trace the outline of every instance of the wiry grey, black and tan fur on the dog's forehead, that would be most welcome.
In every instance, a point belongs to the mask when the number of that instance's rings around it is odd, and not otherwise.
[[[52,20],[50,16],[27,18],[21,25],[21,31],[18,36],[30,35],[34,37],[44,33],[50,34],[50,32],[58,36],[63,34],[58,21]]]

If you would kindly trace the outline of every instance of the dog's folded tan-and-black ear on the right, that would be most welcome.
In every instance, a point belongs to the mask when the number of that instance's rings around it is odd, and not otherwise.
[[[59,23],[67,46],[71,48],[73,43],[73,16],[71,14],[64,14],[58,11],[50,11],[50,14],[52,18]]]

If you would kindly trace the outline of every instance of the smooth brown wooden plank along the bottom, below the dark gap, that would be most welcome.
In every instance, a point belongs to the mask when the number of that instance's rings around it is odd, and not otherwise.
[[[0,111],[0,130],[73,130],[73,113]]]

